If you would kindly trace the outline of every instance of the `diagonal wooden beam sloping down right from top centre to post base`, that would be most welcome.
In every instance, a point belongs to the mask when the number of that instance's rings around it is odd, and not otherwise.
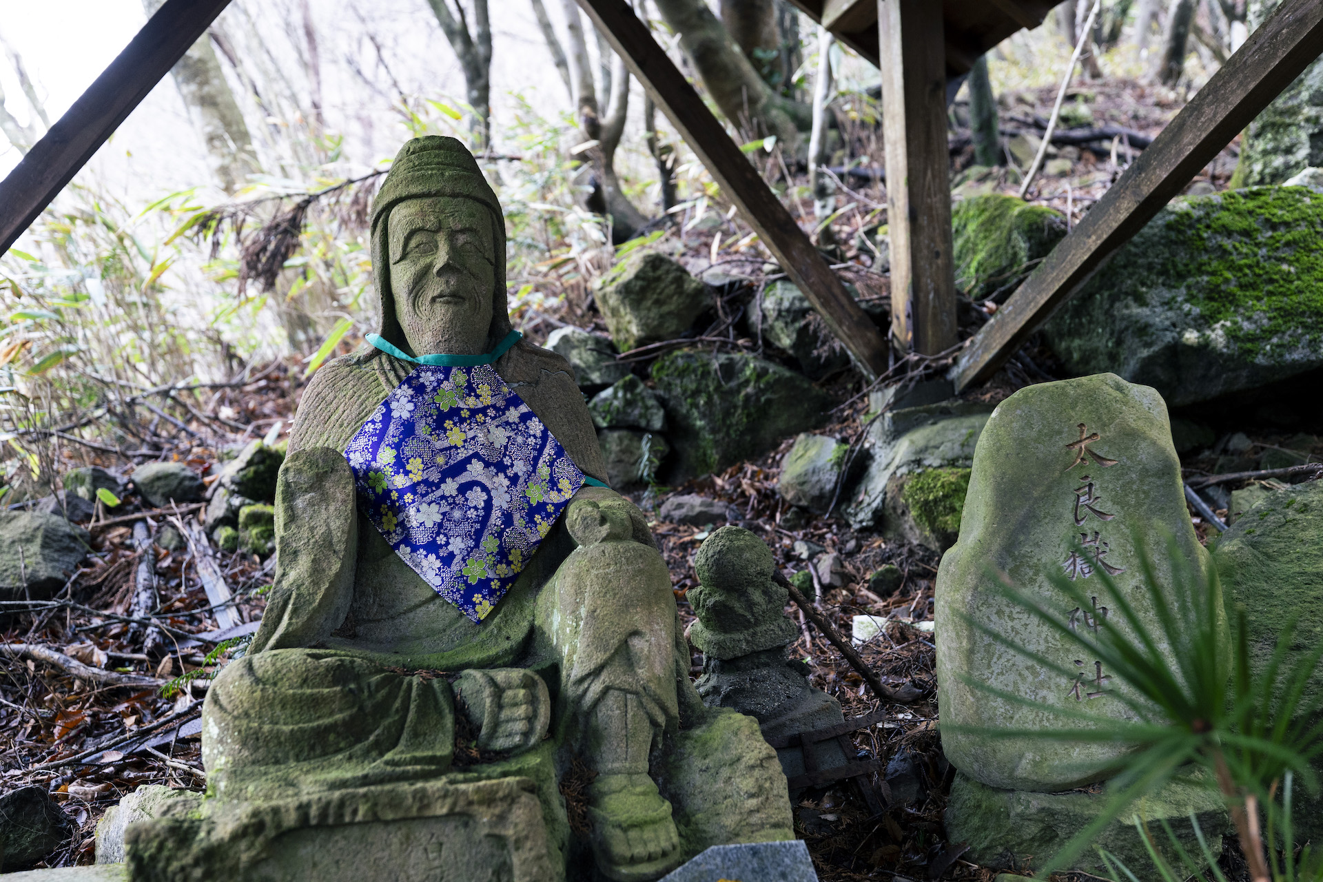
[[[699,155],[721,192],[736,204],[781,268],[844,344],[860,370],[871,380],[885,372],[886,341],[877,327],[849,296],[808,235],[799,229],[758,169],[740,152],[628,4],[624,0],[578,0],[578,4]],[[942,145],[945,156],[945,134]]]

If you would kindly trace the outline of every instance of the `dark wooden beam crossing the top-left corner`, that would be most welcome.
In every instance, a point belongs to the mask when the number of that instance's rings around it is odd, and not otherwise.
[[[167,0],[115,61],[0,181],[0,254],[73,180],[229,0]]]

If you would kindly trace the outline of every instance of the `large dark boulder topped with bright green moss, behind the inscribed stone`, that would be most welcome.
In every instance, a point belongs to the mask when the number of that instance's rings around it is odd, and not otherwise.
[[[1044,336],[1073,373],[1113,372],[1168,405],[1323,365],[1323,193],[1271,186],[1164,208]]]

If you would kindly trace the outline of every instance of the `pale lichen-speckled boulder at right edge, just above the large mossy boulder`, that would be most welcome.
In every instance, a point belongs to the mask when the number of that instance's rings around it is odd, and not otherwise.
[[[1250,0],[1257,29],[1281,0]],[[1282,184],[1310,165],[1323,165],[1323,61],[1315,61],[1245,130],[1233,186]]]

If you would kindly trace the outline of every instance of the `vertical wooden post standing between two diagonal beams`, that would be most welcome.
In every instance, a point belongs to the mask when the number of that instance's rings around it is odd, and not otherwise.
[[[892,345],[934,354],[955,345],[946,52],[942,4],[877,0],[892,246]]]

